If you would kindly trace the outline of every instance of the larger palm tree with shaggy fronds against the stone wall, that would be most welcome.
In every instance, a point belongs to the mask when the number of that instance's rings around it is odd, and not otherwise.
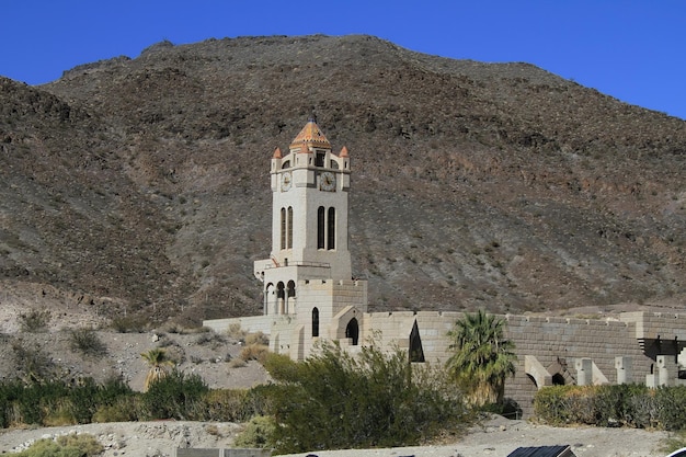
[[[455,353],[446,368],[472,407],[502,402],[505,379],[515,374],[517,356],[514,343],[504,338],[504,327],[503,319],[479,310],[465,313],[448,332]]]

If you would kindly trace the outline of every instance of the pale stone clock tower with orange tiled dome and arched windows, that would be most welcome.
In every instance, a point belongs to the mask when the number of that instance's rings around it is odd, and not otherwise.
[[[310,119],[287,153],[276,148],[270,173],[272,250],[254,274],[263,283],[263,315],[276,322],[271,349],[300,359],[319,338],[357,344],[367,283],[352,279],[347,149],[334,153]]]

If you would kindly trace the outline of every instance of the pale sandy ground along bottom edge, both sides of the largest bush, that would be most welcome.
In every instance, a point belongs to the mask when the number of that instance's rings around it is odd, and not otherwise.
[[[41,437],[90,433],[105,446],[103,456],[172,456],[178,447],[227,448],[240,425],[217,422],[140,422],[2,431],[0,453],[25,448]],[[305,457],[506,457],[518,447],[570,445],[578,457],[661,457],[665,432],[633,429],[559,429],[494,416],[451,444],[384,449],[346,449],[293,454]]]

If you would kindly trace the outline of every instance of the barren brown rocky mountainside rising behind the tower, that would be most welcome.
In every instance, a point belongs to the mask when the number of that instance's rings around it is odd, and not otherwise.
[[[370,310],[686,296],[686,122],[526,64],[307,36],[160,43],[37,88],[0,79],[4,299],[259,313],[270,159],[312,115],[351,153]]]

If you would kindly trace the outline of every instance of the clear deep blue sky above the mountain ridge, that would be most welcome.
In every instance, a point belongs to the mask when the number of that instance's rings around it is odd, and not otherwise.
[[[2,0],[0,75],[30,84],[149,45],[368,34],[421,53],[525,61],[686,119],[686,1]]]

